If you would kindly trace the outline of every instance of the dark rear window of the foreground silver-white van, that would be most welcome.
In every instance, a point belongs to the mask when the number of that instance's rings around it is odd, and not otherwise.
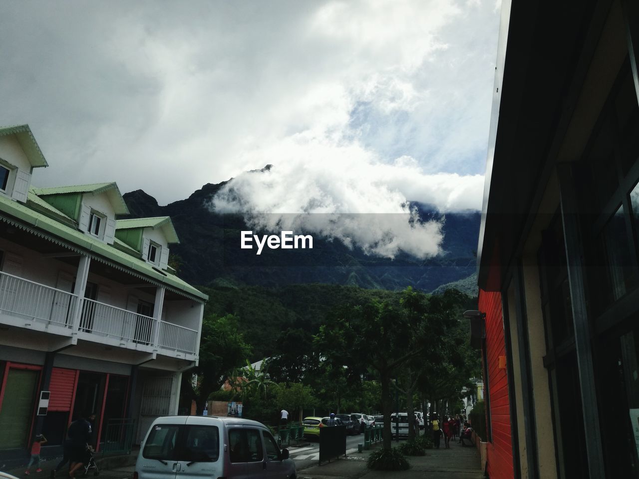
[[[157,424],[142,450],[145,459],[189,462],[215,462],[219,455],[219,429],[208,425]]]

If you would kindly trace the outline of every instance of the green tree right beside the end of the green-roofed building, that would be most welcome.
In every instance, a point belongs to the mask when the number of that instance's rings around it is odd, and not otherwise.
[[[198,414],[209,395],[219,390],[229,373],[250,354],[250,346],[239,331],[238,319],[232,314],[210,315],[202,320],[199,365],[190,371],[192,374],[182,375],[181,385],[183,398],[196,399]]]

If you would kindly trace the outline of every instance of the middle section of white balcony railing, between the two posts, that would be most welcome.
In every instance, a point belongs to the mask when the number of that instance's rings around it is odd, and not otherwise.
[[[150,316],[84,298],[80,331],[140,344],[152,344],[154,330],[155,319]]]

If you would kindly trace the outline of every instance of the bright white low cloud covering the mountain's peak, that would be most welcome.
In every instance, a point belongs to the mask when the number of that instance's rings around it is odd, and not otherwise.
[[[253,229],[314,233],[367,254],[406,252],[423,259],[440,252],[442,224],[422,222],[410,201],[440,211],[477,209],[481,202],[482,176],[424,174],[407,157],[381,162],[357,142],[330,133],[296,135],[261,155],[278,163],[229,181],[213,197],[213,210],[242,213]]]

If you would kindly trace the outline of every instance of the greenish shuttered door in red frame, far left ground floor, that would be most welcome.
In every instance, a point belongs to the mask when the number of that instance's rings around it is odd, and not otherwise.
[[[29,445],[39,377],[37,370],[8,368],[0,404],[0,449]]]

